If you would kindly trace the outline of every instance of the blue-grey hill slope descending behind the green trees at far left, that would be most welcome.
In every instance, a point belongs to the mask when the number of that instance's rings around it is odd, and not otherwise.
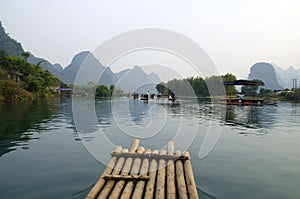
[[[0,51],[5,51],[5,53],[8,56],[16,56],[16,57],[22,57],[22,53],[24,53],[24,49],[21,43],[11,38],[9,34],[5,32],[5,29],[2,26],[1,21],[0,21]],[[35,57],[31,53],[29,53],[29,57],[27,58],[27,61],[31,64],[40,63],[40,66],[43,70],[48,70],[49,72],[56,75],[57,77],[60,77],[60,72],[57,69],[55,69],[55,67],[53,67],[52,64],[45,59]]]

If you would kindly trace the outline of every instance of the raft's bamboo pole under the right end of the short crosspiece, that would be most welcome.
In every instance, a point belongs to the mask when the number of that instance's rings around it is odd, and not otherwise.
[[[151,154],[151,150],[150,149],[146,149],[144,154]],[[140,170],[140,175],[141,176],[147,176],[147,172],[148,172],[148,168],[149,168],[149,158],[145,158],[143,160],[142,166],[141,166],[141,170]],[[148,177],[149,179],[149,177]],[[144,192],[144,187],[145,187],[145,181],[138,181],[133,195],[132,195],[132,199],[140,199],[143,196],[143,192]]]

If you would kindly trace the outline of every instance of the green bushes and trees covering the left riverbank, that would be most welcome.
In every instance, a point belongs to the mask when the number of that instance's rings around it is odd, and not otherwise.
[[[7,56],[0,51],[0,100],[31,100],[56,93],[60,80],[49,71],[42,70],[40,63],[28,63],[29,53],[22,56]]]

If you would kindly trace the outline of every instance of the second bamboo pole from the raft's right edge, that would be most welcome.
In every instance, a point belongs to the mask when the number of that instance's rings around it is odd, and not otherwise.
[[[180,156],[181,151],[177,150],[176,155]],[[188,199],[182,161],[177,160],[175,163],[175,167],[176,167],[176,181],[177,181],[178,196],[180,199]]]

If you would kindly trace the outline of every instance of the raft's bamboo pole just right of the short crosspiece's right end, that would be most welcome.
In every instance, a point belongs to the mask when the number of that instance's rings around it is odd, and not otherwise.
[[[157,155],[158,150],[152,151],[152,154]],[[157,161],[156,159],[152,159],[150,163],[149,181],[147,182],[147,186],[146,186],[145,199],[154,198],[156,173],[157,173]]]

